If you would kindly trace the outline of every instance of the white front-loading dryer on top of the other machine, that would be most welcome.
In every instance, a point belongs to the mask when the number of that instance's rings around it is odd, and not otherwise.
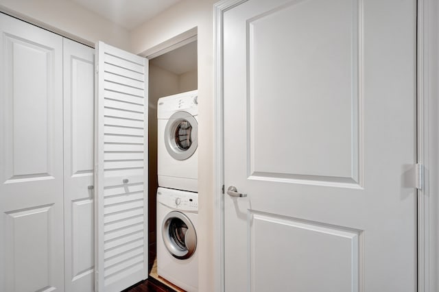
[[[197,90],[157,102],[158,186],[198,191]]]

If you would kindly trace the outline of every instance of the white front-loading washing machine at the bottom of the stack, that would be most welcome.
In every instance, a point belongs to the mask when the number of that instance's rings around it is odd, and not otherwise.
[[[157,190],[157,273],[188,292],[198,291],[198,193]]]

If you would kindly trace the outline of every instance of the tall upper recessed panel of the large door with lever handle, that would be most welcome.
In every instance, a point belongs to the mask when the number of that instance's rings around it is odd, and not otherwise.
[[[346,2],[350,5],[328,4],[325,13],[316,16],[327,19],[323,23],[331,25],[321,25],[312,18],[288,16],[287,13],[300,16],[315,9],[312,1],[296,0],[268,12],[256,12],[256,16],[246,21],[247,167],[251,179],[362,186],[363,1]],[[276,34],[268,33],[268,29]],[[306,34],[304,29],[308,29]],[[296,45],[288,48],[276,45],[286,40],[294,40]],[[277,47],[276,53],[273,47]],[[286,60],[283,56],[287,54],[290,57]],[[307,71],[302,70],[304,63]],[[337,74],[333,72],[335,66]],[[274,77],[279,67],[283,70],[279,75],[284,78]],[[312,86],[309,80],[318,86]],[[272,85],[265,86],[268,83]],[[297,98],[282,99],[287,90],[289,96]],[[305,121],[302,112],[308,113]],[[287,123],[289,133],[278,136],[257,116]],[[314,123],[315,116],[324,117],[326,123]],[[329,136],[336,136],[338,143],[331,143]],[[292,137],[297,141],[311,140],[319,147],[292,145],[289,143]],[[276,145],[272,143],[274,139],[278,141]],[[270,155],[259,155],[268,152]],[[291,153],[296,155],[285,160],[286,154]]]

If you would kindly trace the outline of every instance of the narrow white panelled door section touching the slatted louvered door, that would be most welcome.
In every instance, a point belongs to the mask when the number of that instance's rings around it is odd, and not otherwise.
[[[95,50],[64,41],[65,291],[94,291]]]

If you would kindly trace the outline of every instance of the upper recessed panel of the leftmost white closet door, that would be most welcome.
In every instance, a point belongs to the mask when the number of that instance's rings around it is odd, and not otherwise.
[[[56,74],[53,48],[12,34],[4,34],[6,116],[6,183],[53,178],[53,84]],[[29,66],[34,70],[28,70]],[[37,71],[38,70],[38,71]],[[23,82],[32,80],[32,86]],[[30,85],[30,84],[28,84]],[[32,100],[28,97],[32,96]],[[29,102],[32,101],[32,102]],[[32,123],[27,119],[32,112]],[[22,132],[23,131],[23,132]]]

